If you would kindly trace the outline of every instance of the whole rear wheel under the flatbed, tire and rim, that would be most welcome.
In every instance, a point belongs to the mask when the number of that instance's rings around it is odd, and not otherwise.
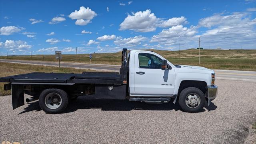
[[[50,114],[62,112],[68,106],[68,94],[55,88],[43,90],[39,96],[39,105]]]

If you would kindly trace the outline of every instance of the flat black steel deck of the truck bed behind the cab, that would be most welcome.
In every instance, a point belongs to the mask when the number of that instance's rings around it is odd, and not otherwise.
[[[123,84],[121,75],[115,72],[83,72],[82,74],[32,72],[28,74],[2,77],[0,78],[0,82]]]

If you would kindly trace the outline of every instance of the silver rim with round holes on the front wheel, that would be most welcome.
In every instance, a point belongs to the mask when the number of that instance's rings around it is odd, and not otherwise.
[[[198,94],[191,93],[186,96],[185,102],[189,108],[197,108],[201,102],[201,99]]]

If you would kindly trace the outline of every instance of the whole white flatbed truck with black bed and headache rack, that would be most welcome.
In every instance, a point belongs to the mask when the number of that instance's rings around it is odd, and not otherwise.
[[[173,65],[151,51],[122,51],[119,73],[83,72],[59,74],[34,72],[0,78],[5,90],[12,89],[13,108],[24,105],[24,93],[39,99],[47,113],[66,109],[78,96],[96,99],[128,99],[146,103],[166,103],[173,98],[185,112],[198,112],[205,102],[216,98],[213,70],[200,66]],[[70,103],[72,104],[72,103]]]

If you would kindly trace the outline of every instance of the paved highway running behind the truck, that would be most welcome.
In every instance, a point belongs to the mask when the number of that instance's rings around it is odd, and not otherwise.
[[[26,61],[26,60],[5,60],[0,59],[0,62],[13,62],[20,64],[36,64],[44,66],[59,66],[57,62],[42,62],[42,61]],[[118,65],[103,65],[103,64],[81,64],[81,63],[67,63],[61,62],[62,67],[69,68],[88,68],[92,70],[105,70],[119,72]],[[252,71],[237,71],[237,70],[214,70],[217,79],[222,80],[239,80],[256,82],[256,72]]]

